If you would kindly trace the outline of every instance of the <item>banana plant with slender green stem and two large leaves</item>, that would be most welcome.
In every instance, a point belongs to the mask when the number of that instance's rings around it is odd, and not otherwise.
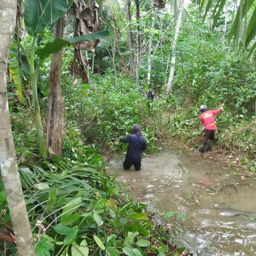
[[[26,52],[23,49],[23,54],[26,56],[27,62],[30,66],[30,83],[33,94],[38,147],[40,155],[44,159],[47,158],[47,151],[37,95],[37,79],[40,67],[44,63],[45,58],[51,54],[58,53],[66,45],[72,45],[79,41],[96,41],[108,36],[108,31],[101,31],[99,33],[74,37],[70,40],[57,39],[53,42],[49,42],[45,47],[38,49],[36,44],[38,34],[43,33],[48,24],[56,22],[56,20],[58,20],[63,13],[70,8],[71,4],[72,0],[26,0],[25,3],[24,22],[27,33],[33,37],[33,40],[30,52]],[[35,59],[37,59],[36,66]]]

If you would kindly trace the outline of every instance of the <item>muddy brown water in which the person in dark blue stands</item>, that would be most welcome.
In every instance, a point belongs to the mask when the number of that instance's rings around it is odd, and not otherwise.
[[[131,197],[160,214],[185,215],[186,221],[177,222],[176,242],[194,255],[256,255],[255,177],[176,150],[144,157],[138,172],[113,160],[109,173],[118,173]]]

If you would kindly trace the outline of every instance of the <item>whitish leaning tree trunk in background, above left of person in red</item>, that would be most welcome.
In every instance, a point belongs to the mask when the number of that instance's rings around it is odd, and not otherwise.
[[[170,62],[170,74],[169,74],[168,84],[166,88],[166,94],[172,93],[172,82],[173,82],[173,76],[175,72],[175,62],[176,62],[176,45],[177,45],[177,39],[180,33],[180,26],[182,25],[182,9],[183,9],[183,0],[180,1],[179,16],[177,18],[173,44],[170,49],[172,51],[172,61]]]

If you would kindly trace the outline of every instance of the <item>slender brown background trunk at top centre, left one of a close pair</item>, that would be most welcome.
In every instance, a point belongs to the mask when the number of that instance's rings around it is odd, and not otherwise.
[[[127,0],[127,44],[130,51],[130,73],[131,76],[136,77],[134,47],[133,47],[133,34],[131,32],[131,0]]]

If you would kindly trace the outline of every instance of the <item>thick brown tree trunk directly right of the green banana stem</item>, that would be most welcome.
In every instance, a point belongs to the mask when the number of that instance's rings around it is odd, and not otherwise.
[[[65,14],[54,24],[54,40],[63,39]],[[56,155],[61,155],[63,96],[61,91],[62,51],[52,54],[49,75],[49,101],[47,109],[46,145]]]

